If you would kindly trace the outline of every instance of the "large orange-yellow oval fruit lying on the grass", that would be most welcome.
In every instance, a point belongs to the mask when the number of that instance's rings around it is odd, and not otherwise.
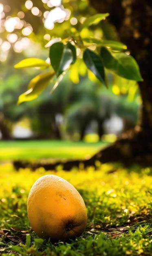
[[[79,237],[86,228],[87,211],[75,187],[57,175],[44,175],[32,186],[27,213],[32,229],[51,242]]]

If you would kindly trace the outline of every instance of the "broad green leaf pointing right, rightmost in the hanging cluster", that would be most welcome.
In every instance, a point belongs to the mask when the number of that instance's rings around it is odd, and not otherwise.
[[[105,47],[101,48],[101,58],[104,61],[104,66],[129,80],[143,81],[139,66],[135,59],[126,53],[111,53]]]

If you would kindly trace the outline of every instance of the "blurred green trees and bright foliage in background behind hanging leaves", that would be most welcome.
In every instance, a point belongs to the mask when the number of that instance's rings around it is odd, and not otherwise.
[[[69,31],[79,29],[78,21],[95,13],[86,0],[0,0],[2,139],[79,140],[95,133],[98,140],[104,134],[118,135],[137,124],[141,104],[137,83],[108,74],[107,90],[79,62],[52,94],[50,85],[39,98],[16,105],[38,70],[18,71],[13,65],[28,57],[46,60],[50,40],[68,36]],[[98,37],[117,40],[115,27],[107,22],[100,22],[93,30]],[[92,33],[88,28],[83,30],[86,37]],[[18,133],[16,124],[26,128],[23,134]]]

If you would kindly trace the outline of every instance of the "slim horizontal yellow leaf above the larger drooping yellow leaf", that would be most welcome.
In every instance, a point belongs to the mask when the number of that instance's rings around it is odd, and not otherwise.
[[[14,65],[15,68],[25,68],[25,67],[50,67],[50,64],[40,58],[25,58],[19,63]]]

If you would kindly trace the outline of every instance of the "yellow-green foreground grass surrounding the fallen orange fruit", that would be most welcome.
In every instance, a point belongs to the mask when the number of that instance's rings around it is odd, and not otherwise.
[[[38,177],[51,173],[72,183],[86,203],[88,223],[81,237],[52,244],[38,238],[27,218],[26,201]],[[103,164],[99,170],[16,172],[0,166],[1,256],[152,255],[152,169]]]

